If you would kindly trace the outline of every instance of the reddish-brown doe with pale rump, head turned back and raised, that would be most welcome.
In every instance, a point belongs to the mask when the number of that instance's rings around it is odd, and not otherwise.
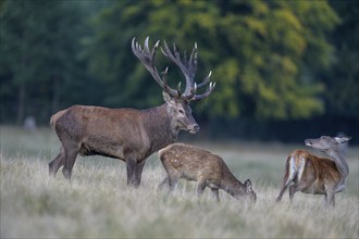
[[[276,201],[281,201],[289,186],[289,199],[301,191],[312,194],[324,194],[325,203],[335,205],[335,193],[345,189],[349,167],[339,151],[339,144],[350,138],[322,136],[319,139],[306,139],[306,146],[326,153],[330,159],[315,156],[305,150],[293,151],[285,164],[285,176]]]

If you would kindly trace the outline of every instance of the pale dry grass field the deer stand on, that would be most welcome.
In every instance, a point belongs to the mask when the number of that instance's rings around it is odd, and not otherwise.
[[[200,203],[195,184],[168,194],[157,189],[164,169],[154,153],[143,184],[127,188],[125,164],[101,156],[78,158],[72,183],[61,171],[48,175],[60,142],[50,129],[34,133],[1,127],[1,238],[358,238],[358,147],[349,148],[348,187],[335,209],[323,196],[298,192],[275,203],[290,150],[304,144],[193,142],[223,156],[237,178],[250,178],[255,205],[221,191],[216,203],[206,190]],[[195,137],[194,137],[195,138]]]

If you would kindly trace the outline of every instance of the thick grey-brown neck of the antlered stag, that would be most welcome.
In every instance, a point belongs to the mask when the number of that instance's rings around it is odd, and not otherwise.
[[[178,130],[171,126],[168,105],[162,104],[144,111],[145,128],[151,144],[151,151],[158,151],[177,139]]]

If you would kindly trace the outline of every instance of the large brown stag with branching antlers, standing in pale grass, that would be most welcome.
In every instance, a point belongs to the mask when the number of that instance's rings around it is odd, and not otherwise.
[[[190,101],[208,97],[215,84],[210,83],[208,89],[197,95],[197,89],[206,86],[211,73],[202,83],[194,81],[197,68],[197,45],[195,45],[189,60],[181,59],[174,45],[174,53],[164,41],[162,53],[173,61],[182,71],[186,79],[186,88],[181,92],[166,84],[168,67],[161,74],[154,65],[159,41],[152,49],[145,40],[144,49],[135,38],[132,50],[163,89],[164,104],[147,110],[107,109],[100,106],[74,105],[60,111],[51,117],[62,148],[57,158],[49,163],[50,175],[55,175],[63,166],[62,173],[71,179],[71,172],[77,154],[103,155],[126,162],[127,185],[138,187],[146,159],[153,152],[166,147],[177,139],[180,130],[196,134],[199,126],[191,114]]]

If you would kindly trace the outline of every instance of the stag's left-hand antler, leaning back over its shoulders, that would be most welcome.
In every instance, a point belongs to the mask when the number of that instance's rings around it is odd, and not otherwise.
[[[166,84],[166,75],[168,75],[168,67],[162,72],[162,78],[159,75],[156,65],[154,65],[154,58],[156,58],[156,52],[157,48],[160,43],[160,40],[156,42],[153,46],[152,50],[148,47],[148,40],[149,37],[146,37],[145,43],[144,43],[144,49],[141,49],[141,46],[138,42],[135,42],[135,37],[132,39],[132,51],[134,54],[143,62],[145,67],[151,73],[152,77],[154,80],[160,85],[160,87],[171,95],[174,98],[180,98],[181,92],[180,90],[174,90],[171,87],[168,86]]]

